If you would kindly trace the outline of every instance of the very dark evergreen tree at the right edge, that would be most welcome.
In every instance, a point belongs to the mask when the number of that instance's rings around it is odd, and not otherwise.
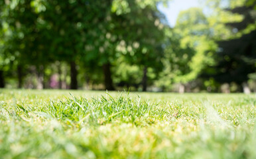
[[[235,36],[227,40],[218,40],[218,64],[214,67],[213,76],[220,83],[235,82],[237,85],[247,87],[249,74],[255,73],[256,62],[256,27],[253,13],[253,4],[245,4],[233,9],[225,9],[231,13],[243,15],[239,22],[225,23],[227,28],[233,30]]]

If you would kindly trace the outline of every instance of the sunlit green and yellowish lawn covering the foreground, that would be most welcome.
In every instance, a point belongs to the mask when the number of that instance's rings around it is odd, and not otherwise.
[[[0,89],[0,158],[256,158],[256,95]]]

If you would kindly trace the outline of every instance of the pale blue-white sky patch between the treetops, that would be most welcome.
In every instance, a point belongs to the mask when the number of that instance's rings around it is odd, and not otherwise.
[[[164,7],[163,5],[159,5],[159,10],[164,13],[166,19],[170,26],[174,26],[176,23],[176,19],[178,17],[178,13],[180,11],[184,11],[189,9],[190,7],[200,7],[199,0],[172,0],[168,2],[168,7]]]

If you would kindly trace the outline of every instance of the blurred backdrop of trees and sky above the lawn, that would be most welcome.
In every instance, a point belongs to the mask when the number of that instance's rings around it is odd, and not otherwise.
[[[1,0],[0,87],[256,92],[256,0]]]

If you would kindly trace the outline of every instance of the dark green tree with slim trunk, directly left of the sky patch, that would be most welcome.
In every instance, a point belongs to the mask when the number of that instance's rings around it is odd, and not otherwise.
[[[146,91],[149,68],[156,73],[162,68],[160,59],[163,57],[164,25],[161,21],[164,21],[164,16],[157,10],[158,1],[121,1],[124,4],[121,9],[115,6],[115,2],[112,9],[117,15],[113,19],[119,23],[115,27],[115,34],[121,36],[116,51],[125,57],[127,64],[142,68],[141,84],[143,91]]]

